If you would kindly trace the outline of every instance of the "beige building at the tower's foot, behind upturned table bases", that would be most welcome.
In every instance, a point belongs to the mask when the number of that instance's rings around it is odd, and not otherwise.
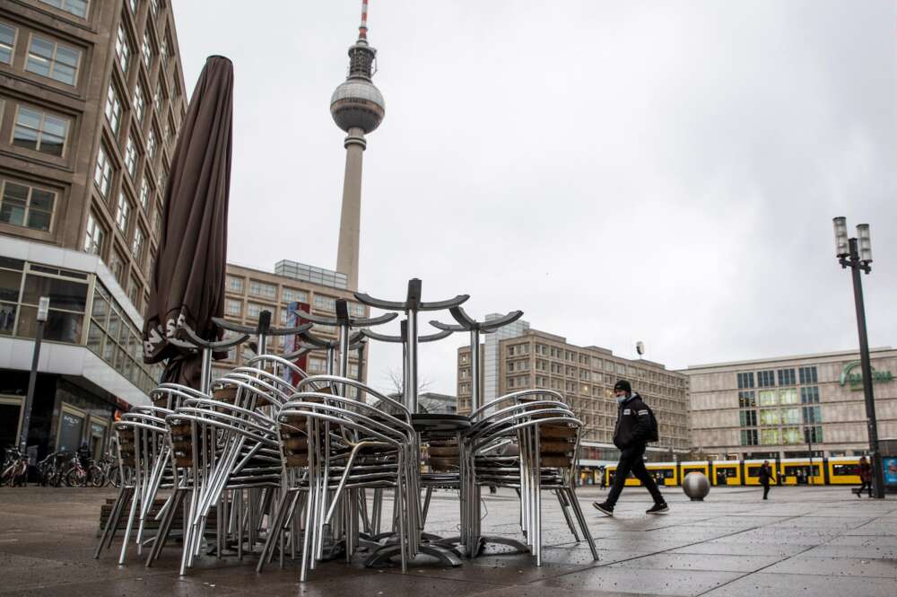
[[[345,299],[349,303],[349,314],[354,317],[368,317],[369,308],[354,300],[351,290],[347,288],[344,274],[323,268],[314,268],[293,261],[278,261],[274,272],[244,268],[232,263],[227,266],[226,300],[224,317],[227,320],[255,326],[262,311],[271,312],[271,324],[275,327],[286,327],[291,303],[299,303],[301,311],[307,311],[335,317],[336,299]],[[328,340],[337,339],[335,327],[315,325],[312,333]],[[274,354],[283,353],[286,337],[273,338]],[[243,364],[254,356],[248,347],[231,348],[227,360],[213,363],[213,378],[221,377],[231,367]],[[367,349],[361,359],[361,377],[366,379]],[[315,351],[308,357],[306,365],[308,373],[325,373],[327,360],[325,352]],[[359,360],[353,351],[349,355],[349,376],[359,375]]]

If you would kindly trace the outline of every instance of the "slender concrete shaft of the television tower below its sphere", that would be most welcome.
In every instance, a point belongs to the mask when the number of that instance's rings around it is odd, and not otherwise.
[[[361,233],[361,162],[364,155],[364,131],[349,129],[345,137],[345,175],[343,209],[339,219],[339,246],[336,271],[348,278],[349,288],[358,289],[358,245]]]

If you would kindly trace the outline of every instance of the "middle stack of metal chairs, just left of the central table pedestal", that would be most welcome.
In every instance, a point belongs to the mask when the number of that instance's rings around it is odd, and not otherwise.
[[[358,399],[344,398],[344,389],[358,390]],[[271,528],[282,530],[299,492],[307,495],[300,580],[317,567],[327,540],[344,541],[346,559],[360,543],[359,517],[364,488],[396,491],[397,534],[402,569],[416,555],[421,517],[418,496],[418,443],[411,414],[399,402],[361,382],[335,375],[311,376],[283,404],[277,428],[291,496],[282,495]],[[389,414],[367,400],[388,405]],[[338,531],[335,531],[338,529]],[[268,538],[273,543],[277,537]],[[270,553],[270,549],[266,549]]]

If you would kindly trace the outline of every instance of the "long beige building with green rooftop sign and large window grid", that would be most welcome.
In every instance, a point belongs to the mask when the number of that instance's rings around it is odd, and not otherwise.
[[[880,438],[897,437],[897,350],[871,351]],[[715,458],[851,456],[868,451],[858,352],[692,365],[695,451]],[[807,442],[809,440],[809,443]]]

